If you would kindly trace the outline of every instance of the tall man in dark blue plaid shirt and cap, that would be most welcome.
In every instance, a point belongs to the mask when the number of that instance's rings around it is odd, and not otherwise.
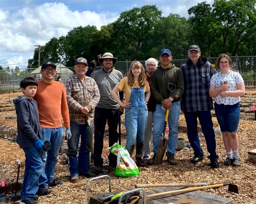
[[[196,164],[203,160],[204,152],[201,148],[198,132],[197,118],[205,137],[208,157],[212,168],[218,168],[216,154],[216,141],[213,130],[211,109],[212,98],[209,96],[210,79],[217,71],[206,58],[201,57],[198,45],[191,45],[188,49],[188,60],[181,66],[184,77],[184,93],[182,96],[182,109],[187,123],[188,140],[194,150],[194,157],[190,162]]]

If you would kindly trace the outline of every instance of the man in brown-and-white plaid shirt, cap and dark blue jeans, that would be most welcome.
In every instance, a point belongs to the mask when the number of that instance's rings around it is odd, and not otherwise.
[[[100,100],[100,93],[95,80],[85,76],[88,69],[87,60],[78,58],[75,63],[76,74],[65,81],[70,117],[71,134],[68,140],[70,182],[76,183],[78,175],[94,177],[90,172],[90,152],[93,138],[94,108]],[[77,149],[81,135],[78,160]]]

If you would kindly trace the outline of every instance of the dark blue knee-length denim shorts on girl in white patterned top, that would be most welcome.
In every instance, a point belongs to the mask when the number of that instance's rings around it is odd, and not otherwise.
[[[214,103],[214,108],[221,132],[236,133],[240,119],[240,103],[234,105]]]

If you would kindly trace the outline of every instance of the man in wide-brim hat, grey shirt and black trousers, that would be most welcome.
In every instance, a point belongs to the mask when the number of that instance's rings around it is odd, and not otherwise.
[[[119,119],[119,105],[111,96],[112,89],[121,81],[123,75],[120,71],[113,69],[117,58],[110,52],[104,53],[99,59],[102,69],[94,72],[94,79],[99,87],[100,101],[94,112],[94,149],[93,162],[95,174],[102,174],[103,159],[103,137],[105,126],[108,121],[109,146],[118,140],[117,126]],[[112,153],[108,156],[109,166],[116,167],[116,156]],[[111,169],[111,168],[110,168]]]

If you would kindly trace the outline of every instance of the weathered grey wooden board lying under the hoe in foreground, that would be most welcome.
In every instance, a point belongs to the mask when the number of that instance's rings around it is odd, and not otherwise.
[[[158,187],[157,189],[146,191],[146,195],[151,195],[154,193],[162,193],[173,190],[186,189],[186,187]],[[219,195],[214,195],[211,193],[206,193],[203,191],[192,191],[187,193],[166,195],[163,197],[151,198],[149,200],[153,201],[154,204],[163,204],[169,202],[176,202],[179,199],[186,198],[198,202],[202,202],[204,204],[232,204],[233,201],[227,198],[220,197]]]

